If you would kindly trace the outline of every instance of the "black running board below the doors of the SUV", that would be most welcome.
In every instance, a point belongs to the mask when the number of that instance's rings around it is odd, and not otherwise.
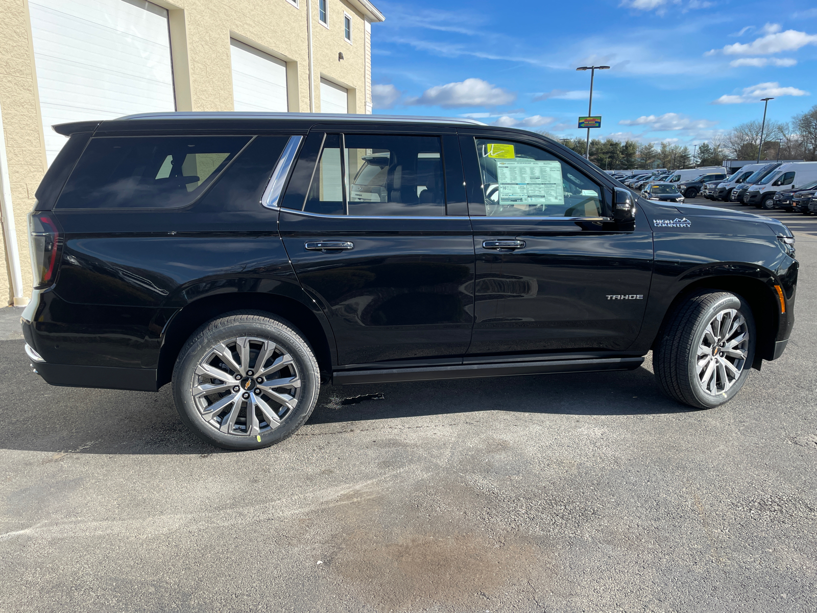
[[[432,381],[475,377],[512,377],[518,374],[587,373],[600,370],[635,370],[644,357],[598,358],[594,360],[542,360],[537,362],[503,362],[502,364],[467,364],[408,369],[336,370],[333,383],[394,383],[399,381]]]

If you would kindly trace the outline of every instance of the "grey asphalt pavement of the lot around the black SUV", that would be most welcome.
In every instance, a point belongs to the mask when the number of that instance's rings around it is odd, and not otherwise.
[[[763,214],[797,236],[797,324],[710,410],[648,359],[325,387],[225,452],[167,387],[43,383],[0,310],[0,611],[817,611],[817,218]]]

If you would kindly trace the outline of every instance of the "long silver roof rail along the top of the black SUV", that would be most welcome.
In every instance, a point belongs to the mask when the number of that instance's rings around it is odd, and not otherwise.
[[[423,117],[411,115],[368,115],[335,113],[255,113],[248,111],[173,111],[164,113],[140,113],[125,115],[119,119],[320,119],[323,121],[377,122],[397,121],[403,123],[448,123],[484,126],[476,119],[452,117]]]

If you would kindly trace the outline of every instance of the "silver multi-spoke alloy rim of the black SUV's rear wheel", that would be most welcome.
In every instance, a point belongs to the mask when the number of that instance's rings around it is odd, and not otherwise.
[[[301,378],[286,351],[266,338],[220,342],[199,361],[190,393],[209,426],[234,436],[260,436],[292,414]]]

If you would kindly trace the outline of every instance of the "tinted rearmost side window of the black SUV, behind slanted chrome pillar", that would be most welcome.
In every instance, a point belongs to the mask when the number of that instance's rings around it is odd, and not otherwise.
[[[56,208],[183,207],[208,188],[250,138],[92,138]]]

